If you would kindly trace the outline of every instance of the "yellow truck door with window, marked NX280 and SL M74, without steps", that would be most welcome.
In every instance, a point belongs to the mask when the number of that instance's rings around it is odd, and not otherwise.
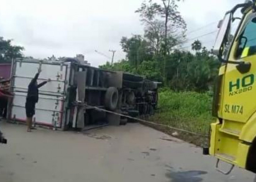
[[[256,95],[255,32],[256,17],[246,23],[233,45],[230,57],[244,64],[227,64],[222,106],[223,119],[245,123],[256,111],[256,102],[252,102]]]

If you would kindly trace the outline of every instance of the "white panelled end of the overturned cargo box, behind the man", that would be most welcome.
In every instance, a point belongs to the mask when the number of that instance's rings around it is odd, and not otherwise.
[[[48,78],[52,81],[39,88],[39,101],[35,106],[33,121],[35,124],[64,127],[66,110],[64,109],[67,85],[69,84],[70,62],[52,62],[38,60],[22,60],[14,62],[12,68],[12,88],[14,99],[9,110],[12,120],[26,121],[25,102],[27,87],[34,78],[39,67],[37,82]]]

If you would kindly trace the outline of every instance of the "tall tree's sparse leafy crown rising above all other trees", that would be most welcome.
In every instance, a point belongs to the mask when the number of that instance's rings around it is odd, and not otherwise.
[[[177,11],[177,4],[174,0],[159,0],[161,3],[153,3],[149,0],[144,1],[141,7],[135,12],[140,14],[140,21],[145,25],[145,37],[153,42],[155,51],[158,53],[159,46],[162,46],[162,54],[170,54],[173,46],[178,41],[184,39],[186,31],[186,23]],[[169,41],[168,41],[169,40]],[[175,44],[170,44],[172,41]]]

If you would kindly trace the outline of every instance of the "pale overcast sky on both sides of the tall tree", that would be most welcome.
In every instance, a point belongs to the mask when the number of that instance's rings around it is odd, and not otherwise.
[[[160,1],[160,0],[155,0]],[[122,36],[143,34],[139,15],[134,13],[143,0],[0,0],[0,36],[25,47],[25,56],[74,57],[83,54],[92,66],[125,58]],[[189,50],[199,39],[210,48],[217,24],[224,13],[244,0],[184,0],[178,10],[187,23]],[[212,33],[210,33],[212,32]],[[202,36],[204,34],[208,35]],[[102,56],[95,52],[103,53]]]

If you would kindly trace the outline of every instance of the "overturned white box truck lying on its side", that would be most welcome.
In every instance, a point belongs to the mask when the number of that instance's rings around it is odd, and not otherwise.
[[[11,68],[14,99],[8,106],[10,120],[26,120],[27,86],[39,67],[42,72],[38,83],[48,78],[52,81],[39,88],[39,102],[33,118],[36,125],[67,130],[126,124],[124,116],[95,107],[137,117],[154,114],[157,106],[158,83],[143,76],[102,70],[73,58],[57,61],[20,59],[14,60]]]

